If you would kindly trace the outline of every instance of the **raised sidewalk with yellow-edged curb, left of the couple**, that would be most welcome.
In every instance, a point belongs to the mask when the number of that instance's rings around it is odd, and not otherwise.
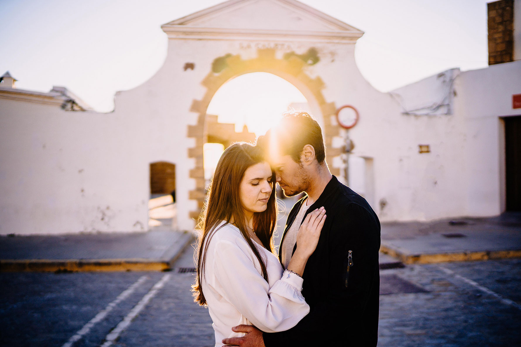
[[[173,230],[0,236],[0,272],[169,271],[193,242]]]

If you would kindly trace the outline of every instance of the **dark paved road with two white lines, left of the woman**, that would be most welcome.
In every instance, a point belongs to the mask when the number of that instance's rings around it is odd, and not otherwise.
[[[190,248],[191,249],[191,248]],[[176,267],[194,267],[190,250]],[[208,311],[193,303],[191,272],[0,273],[0,336],[5,346],[61,346],[118,295],[145,276],[125,300],[74,346],[99,346],[164,276],[163,288],[143,307],[115,346],[213,345]]]

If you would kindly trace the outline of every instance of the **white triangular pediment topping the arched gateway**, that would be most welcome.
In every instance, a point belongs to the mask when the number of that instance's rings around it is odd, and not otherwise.
[[[229,0],[171,21],[166,27],[270,31],[363,32],[296,0]]]

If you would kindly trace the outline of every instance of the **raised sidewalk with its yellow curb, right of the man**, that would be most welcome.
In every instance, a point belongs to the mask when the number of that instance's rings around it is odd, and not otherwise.
[[[521,258],[521,213],[382,223],[380,252],[404,264]]]

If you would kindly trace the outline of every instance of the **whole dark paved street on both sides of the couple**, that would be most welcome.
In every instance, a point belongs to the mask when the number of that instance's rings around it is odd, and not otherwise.
[[[193,267],[190,250],[172,272],[0,273],[0,344],[62,346],[97,316],[74,346],[107,346],[107,339],[120,347],[212,346],[208,311],[189,291],[194,276],[180,267]],[[521,345],[519,259],[408,265],[380,275],[379,346]],[[116,336],[107,338],[111,331]]]

